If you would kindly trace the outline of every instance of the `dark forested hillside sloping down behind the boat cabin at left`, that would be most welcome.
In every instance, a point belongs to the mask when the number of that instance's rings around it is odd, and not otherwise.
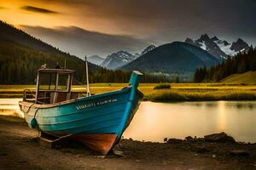
[[[79,81],[84,77],[84,62],[73,55],[66,54],[49,44],[31,37],[24,31],[0,21],[0,84],[33,84],[36,71],[47,64],[54,68],[55,63],[76,71]],[[89,63],[90,71],[101,67]]]

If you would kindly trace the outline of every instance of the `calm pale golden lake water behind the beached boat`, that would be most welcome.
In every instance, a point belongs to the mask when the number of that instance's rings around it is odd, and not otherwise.
[[[0,115],[23,117],[21,99],[0,99]],[[125,139],[163,142],[225,132],[237,141],[256,143],[256,101],[142,102]]]

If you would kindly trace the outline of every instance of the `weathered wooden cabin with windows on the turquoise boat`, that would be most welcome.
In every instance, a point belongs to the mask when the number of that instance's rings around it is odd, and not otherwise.
[[[55,104],[82,97],[81,93],[71,91],[73,73],[71,70],[39,69],[37,89],[35,92],[25,90],[24,100],[35,101],[37,104]]]

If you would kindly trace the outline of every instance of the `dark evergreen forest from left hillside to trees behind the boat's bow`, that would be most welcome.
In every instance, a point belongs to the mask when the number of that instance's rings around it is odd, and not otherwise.
[[[58,62],[75,71],[77,82],[85,82],[84,61],[0,20],[0,84],[35,84],[41,65],[55,68]],[[128,82],[131,71],[111,71],[89,63],[90,82]],[[171,82],[166,75],[143,76],[143,82]],[[75,82],[76,83],[76,82]]]

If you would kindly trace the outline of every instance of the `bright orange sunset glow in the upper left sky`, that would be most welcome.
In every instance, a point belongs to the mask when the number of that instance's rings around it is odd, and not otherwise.
[[[45,3],[44,1],[4,1],[0,0],[2,10],[1,20],[7,21],[14,26],[43,26],[54,28],[56,26],[79,26],[86,30],[101,31],[105,33],[117,33],[115,26],[109,25],[111,20],[104,17],[93,16],[92,9],[83,6],[83,10],[78,10],[77,4]],[[44,8],[51,13],[40,13],[28,11],[23,7]],[[81,7],[80,7],[81,8]]]

